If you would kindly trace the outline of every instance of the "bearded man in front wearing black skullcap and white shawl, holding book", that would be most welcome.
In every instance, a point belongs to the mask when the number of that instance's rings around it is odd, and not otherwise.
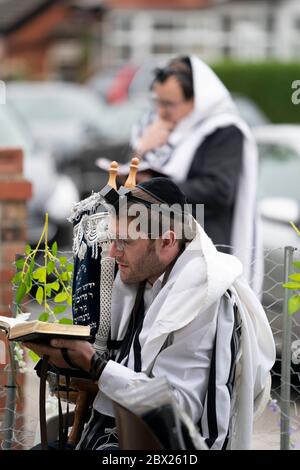
[[[251,448],[255,402],[268,398],[274,340],[241,262],[216,250],[185,203],[175,183],[154,178],[129,191],[125,212],[112,217],[110,255],[119,269],[111,305],[115,349],[108,357],[85,341],[28,345],[58,367],[73,364],[89,372],[98,383],[79,450],[117,448],[114,393],[126,397],[159,377],[169,382],[209,448]],[[150,222],[138,236],[127,231],[136,219],[134,205]],[[169,228],[161,223],[155,233],[160,209]]]

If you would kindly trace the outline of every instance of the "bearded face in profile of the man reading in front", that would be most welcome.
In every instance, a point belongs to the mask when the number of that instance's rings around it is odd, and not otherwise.
[[[126,233],[122,230],[124,223],[127,222],[117,221],[116,240],[112,242],[110,248],[110,256],[116,259],[119,266],[121,280],[126,284],[134,284],[146,279],[153,283],[165,270],[157,254],[158,240],[124,239],[122,236]]]

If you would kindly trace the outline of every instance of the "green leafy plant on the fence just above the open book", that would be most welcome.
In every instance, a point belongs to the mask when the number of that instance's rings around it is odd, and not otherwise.
[[[37,258],[42,254],[43,261]],[[16,313],[22,313],[22,302],[26,296],[35,298],[41,306],[38,319],[45,322],[72,323],[64,316],[72,305],[73,263],[60,256],[57,242],[48,245],[48,214],[41,237],[35,248],[26,245],[25,253],[16,261],[15,286]],[[30,354],[36,359],[34,353]],[[33,357],[34,356],[34,357]]]

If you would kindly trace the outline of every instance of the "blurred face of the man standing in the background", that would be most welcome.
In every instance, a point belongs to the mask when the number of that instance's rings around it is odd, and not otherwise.
[[[186,100],[178,80],[173,76],[164,83],[154,83],[153,100],[159,117],[174,125],[190,114],[194,108],[194,99]]]

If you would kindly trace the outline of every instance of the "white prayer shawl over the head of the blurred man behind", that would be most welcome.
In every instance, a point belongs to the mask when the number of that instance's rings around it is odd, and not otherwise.
[[[233,217],[232,253],[243,264],[244,276],[259,293],[263,277],[262,241],[256,213],[257,147],[247,124],[240,118],[232,98],[212,69],[199,58],[191,56],[195,106],[191,114],[180,121],[169,137],[169,158],[159,159],[160,152],[148,152],[143,160],[171,177],[185,181],[195,151],[216,129],[236,126],[244,136],[242,171],[239,178]],[[153,115],[154,117],[154,115]],[[144,125],[149,124],[145,122]],[[135,147],[139,131],[133,133]],[[167,147],[167,146],[165,146]],[[171,150],[173,149],[173,150]],[[201,203],[201,201],[199,201]]]

